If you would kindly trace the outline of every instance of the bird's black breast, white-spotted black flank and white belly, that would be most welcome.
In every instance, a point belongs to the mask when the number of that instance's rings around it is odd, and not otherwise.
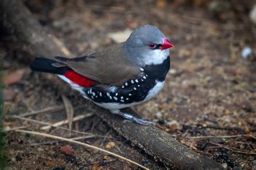
[[[162,64],[146,65],[140,70],[143,76],[126,81],[122,86],[111,86],[108,89],[90,87],[83,89],[86,98],[105,108],[119,109],[136,105],[149,100],[163,88],[164,80],[170,69],[170,57]]]

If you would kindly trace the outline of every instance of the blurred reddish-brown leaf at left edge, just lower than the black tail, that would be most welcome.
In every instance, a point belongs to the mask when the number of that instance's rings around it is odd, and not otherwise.
[[[8,86],[11,84],[15,84],[22,79],[23,74],[25,73],[25,69],[19,69],[15,72],[4,74],[3,76],[3,84],[4,86]]]

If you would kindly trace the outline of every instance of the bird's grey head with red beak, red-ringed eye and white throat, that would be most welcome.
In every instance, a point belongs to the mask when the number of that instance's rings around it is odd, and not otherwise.
[[[144,67],[163,63],[172,46],[156,26],[144,25],[131,33],[124,42],[123,50],[132,64]]]

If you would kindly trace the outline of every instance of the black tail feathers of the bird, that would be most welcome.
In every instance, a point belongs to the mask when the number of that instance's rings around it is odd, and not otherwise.
[[[70,71],[69,67],[55,67],[52,64],[57,63],[55,60],[48,58],[38,57],[30,63],[30,68],[33,71],[47,72],[53,74],[64,74]]]

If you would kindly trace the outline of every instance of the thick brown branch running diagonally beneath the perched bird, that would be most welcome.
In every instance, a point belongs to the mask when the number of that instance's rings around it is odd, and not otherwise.
[[[68,56],[70,52],[53,36],[46,32],[31,12],[15,0],[0,1],[3,12],[3,25],[14,30],[23,42],[26,42],[37,56],[52,58]],[[177,169],[223,169],[217,162],[200,155],[192,149],[180,144],[166,132],[152,126],[134,123],[123,124],[123,118],[113,115],[98,106],[95,112],[120,135],[130,140],[133,145],[142,148],[146,153],[164,162],[165,165]],[[132,112],[127,108],[126,112]],[[136,113],[134,113],[136,114]]]

